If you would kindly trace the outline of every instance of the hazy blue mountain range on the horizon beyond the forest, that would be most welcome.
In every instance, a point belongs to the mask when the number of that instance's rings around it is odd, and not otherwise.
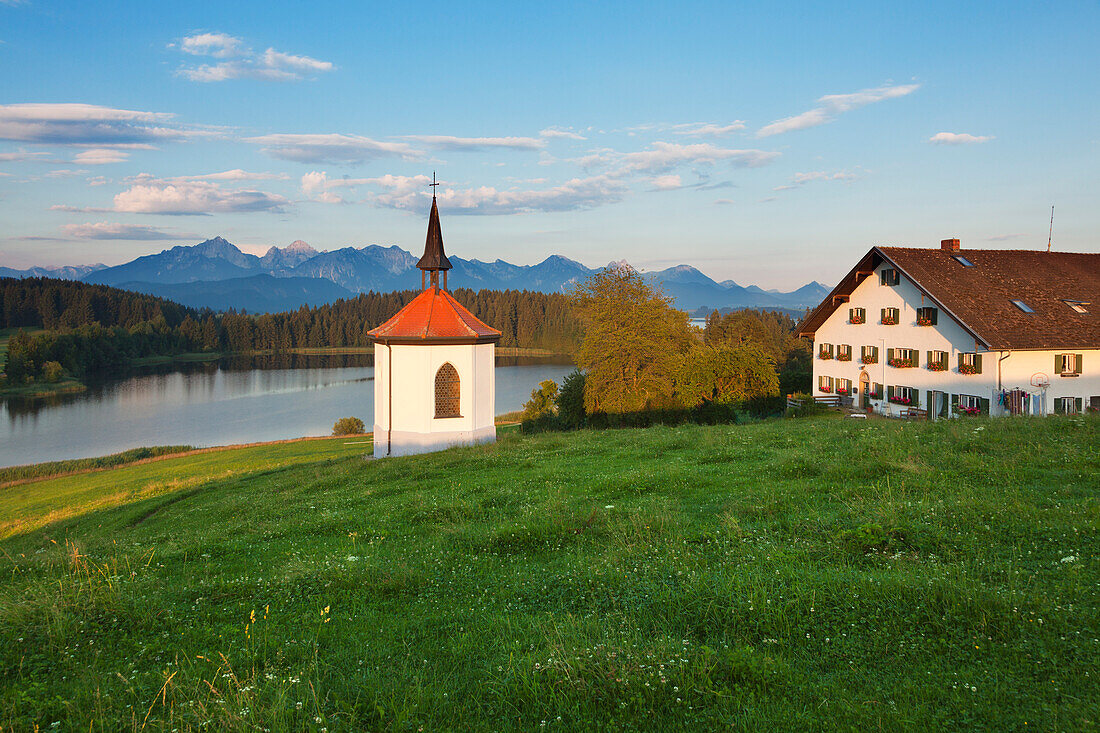
[[[449,286],[472,289],[568,291],[595,272],[580,262],[550,255],[535,265],[503,260],[482,262],[450,256],[454,269]],[[242,252],[221,237],[194,245],[177,245],[116,266],[0,267],[0,277],[65,277],[162,296],[184,305],[249,313],[288,310],[320,305],[356,293],[385,293],[420,287],[417,258],[399,247],[372,244],[318,252],[298,240],[272,247],[263,256]],[[817,305],[829,288],[809,283],[791,293],[743,287],[732,280],[715,282],[690,265],[646,273],[686,310],[781,308],[801,310]]]

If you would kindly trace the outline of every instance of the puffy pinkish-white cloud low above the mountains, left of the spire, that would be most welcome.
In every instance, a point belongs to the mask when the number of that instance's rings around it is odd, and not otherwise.
[[[278,211],[288,204],[262,190],[226,190],[218,184],[143,177],[114,197],[114,210],[129,214],[206,215]]]

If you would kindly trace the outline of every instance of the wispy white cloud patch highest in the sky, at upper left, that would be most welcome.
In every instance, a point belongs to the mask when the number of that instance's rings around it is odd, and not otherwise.
[[[226,33],[189,35],[179,42],[179,50],[193,56],[212,56],[224,59],[217,64],[180,68],[179,75],[191,81],[227,81],[229,79],[298,81],[309,75],[333,69],[332,62],[286,54],[274,48],[267,48],[261,54],[253,53],[244,41]]]

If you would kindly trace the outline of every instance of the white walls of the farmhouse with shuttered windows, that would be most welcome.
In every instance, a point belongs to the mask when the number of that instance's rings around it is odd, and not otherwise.
[[[964,328],[945,310],[938,309],[935,326],[917,326],[916,309],[925,306],[936,307],[936,304],[925,297],[921,291],[904,275],[898,285],[882,285],[881,271],[890,269],[888,263],[879,265],[875,274],[865,278],[853,291],[848,303],[838,304],[814,335],[814,383],[815,396],[825,396],[820,389],[821,376],[832,376],[834,380],[851,380],[854,390],[859,389],[861,372],[867,372],[871,385],[883,385],[881,400],[871,401],[876,412],[899,414],[905,409],[902,405],[887,402],[887,387],[908,386],[917,391],[919,402],[914,406],[928,409],[928,391],[943,392],[949,395],[972,395],[990,400],[990,413],[1001,414],[996,401],[1000,390],[1022,389],[1037,395],[1043,412],[1054,412],[1055,398],[1071,396],[1081,397],[1086,406],[1090,397],[1097,396],[1093,406],[1100,407],[1100,351],[1070,349],[1068,351],[1082,354],[1084,369],[1080,376],[1058,376],[1054,372],[1054,358],[1060,351],[982,351]],[[848,322],[849,308],[864,308],[866,322],[855,325]],[[882,308],[898,308],[897,326],[883,326],[880,322]],[[821,358],[821,346],[827,343],[834,347],[833,359]],[[851,361],[837,361],[836,347],[849,344]],[[862,364],[860,350],[864,346],[878,347],[877,364]],[[887,364],[888,349],[915,349],[919,357],[916,368],[894,368]],[[931,371],[927,369],[928,351],[947,352],[947,370]],[[959,353],[977,352],[982,357],[980,374],[960,374],[958,372]],[[1005,357],[1000,361],[1001,357]],[[1000,366],[1000,373],[998,372]],[[1033,375],[1044,374],[1049,381],[1045,391],[1032,386]],[[856,394],[856,404],[861,404],[862,394]]]

